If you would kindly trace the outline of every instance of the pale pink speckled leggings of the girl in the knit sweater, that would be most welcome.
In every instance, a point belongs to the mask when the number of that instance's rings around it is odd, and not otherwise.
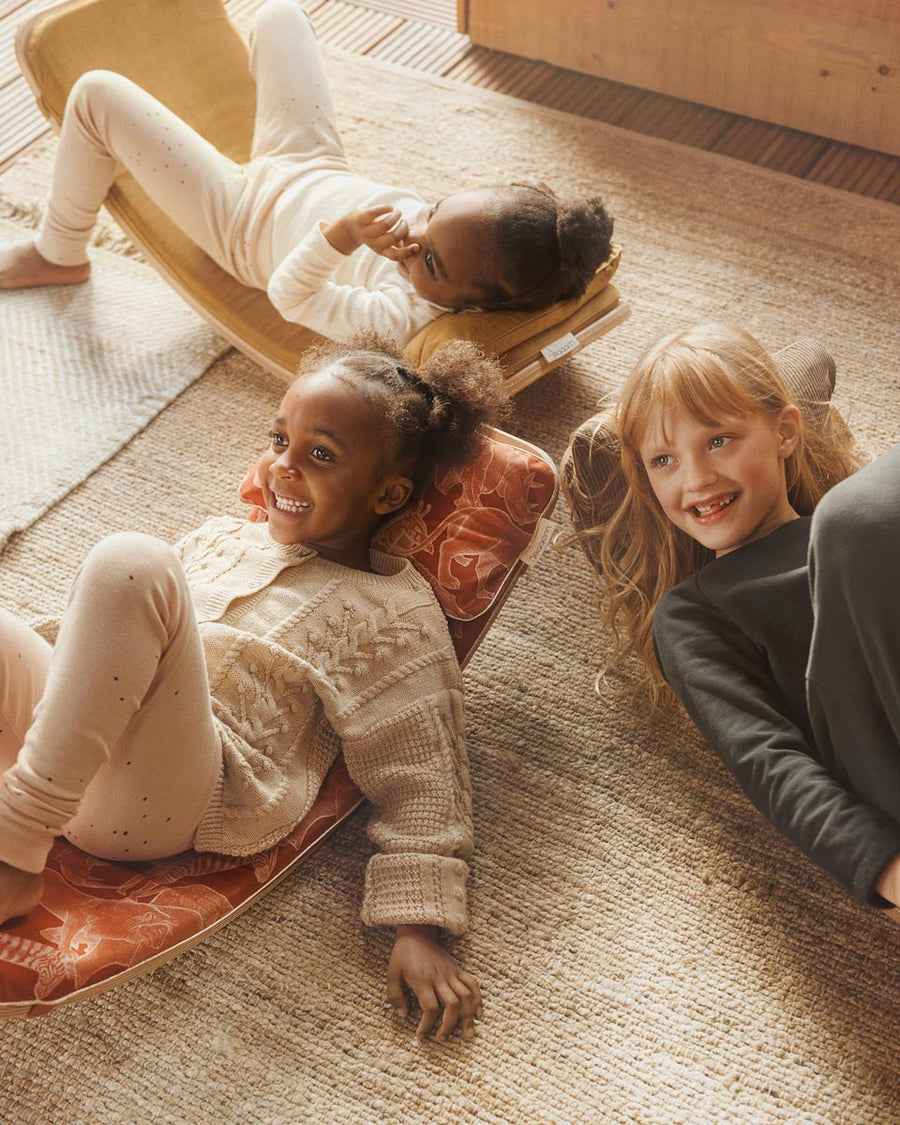
[[[98,543],[55,648],[0,611],[0,765],[15,760],[0,786],[0,858],[40,871],[61,830],[110,860],[191,846],[222,754],[171,547],[136,533]]]

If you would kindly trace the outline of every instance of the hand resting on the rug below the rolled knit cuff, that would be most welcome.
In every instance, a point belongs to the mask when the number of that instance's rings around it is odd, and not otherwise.
[[[462,1038],[475,1038],[475,1019],[482,1017],[482,992],[478,982],[464,972],[443,948],[434,926],[397,926],[394,950],[387,966],[387,998],[404,1018],[410,1014],[407,986],[415,993],[422,1018],[415,1037],[424,1040],[443,1017],[434,1038],[443,1043],[457,1024]]]

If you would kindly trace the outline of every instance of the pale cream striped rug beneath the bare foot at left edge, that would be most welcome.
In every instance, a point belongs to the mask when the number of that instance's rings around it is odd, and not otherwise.
[[[0,220],[3,245],[29,234]],[[91,253],[87,285],[0,296],[0,547],[227,346],[150,267],[109,250]]]

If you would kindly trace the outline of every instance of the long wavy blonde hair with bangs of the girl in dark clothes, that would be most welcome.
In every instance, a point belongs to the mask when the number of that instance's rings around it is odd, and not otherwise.
[[[801,434],[785,461],[785,483],[794,511],[809,515],[832,485],[866,459],[837,411],[828,403],[795,400],[762,344],[729,325],[672,333],[638,360],[614,414],[626,487],[610,518],[586,532],[594,540],[604,583],[601,608],[614,644],[601,677],[636,656],[652,702],[672,701],[654,654],[654,612],[667,590],[713,557],[669,522],[654,495],[639,453],[648,425],[673,408],[717,425],[735,416],[777,415],[792,403],[800,407]],[[824,424],[806,424],[804,406],[808,413],[817,407]]]

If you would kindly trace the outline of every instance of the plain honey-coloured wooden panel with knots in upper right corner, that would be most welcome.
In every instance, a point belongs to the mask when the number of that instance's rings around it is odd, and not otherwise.
[[[475,43],[900,155],[900,0],[459,0]]]

